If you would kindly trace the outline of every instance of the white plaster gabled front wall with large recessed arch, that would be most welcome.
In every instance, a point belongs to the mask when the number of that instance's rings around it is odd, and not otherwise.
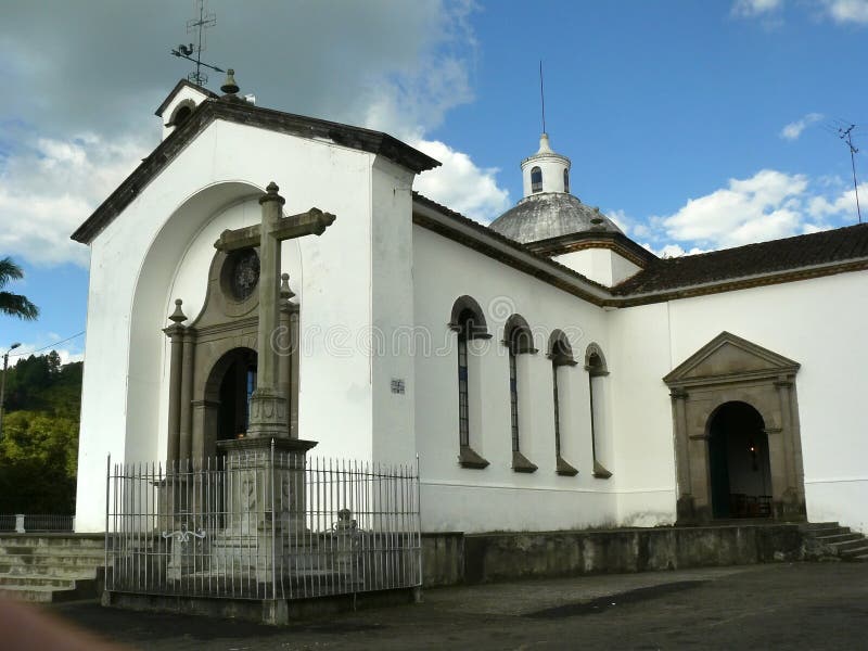
[[[285,214],[317,206],[337,215],[324,235],[299,244],[305,269],[301,435],[319,441],[316,454],[371,458],[370,356],[360,355],[347,333],[371,323],[373,159],[357,150],[217,122],[98,235],[81,412],[79,531],[104,524],[107,452],[117,461],[165,457],[165,435],[162,441],[156,435],[165,432],[162,328],[167,307],[188,282],[184,269],[201,268],[207,257],[193,261],[186,253],[189,243],[227,206],[271,180],[286,199]],[[195,299],[190,301],[192,307]]]

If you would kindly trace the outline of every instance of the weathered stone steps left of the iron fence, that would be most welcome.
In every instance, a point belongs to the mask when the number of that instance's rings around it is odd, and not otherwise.
[[[102,536],[0,535],[0,598],[52,603],[99,597],[104,545]]]

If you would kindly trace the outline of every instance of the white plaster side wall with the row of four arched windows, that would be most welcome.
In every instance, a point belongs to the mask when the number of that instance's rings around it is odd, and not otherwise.
[[[430,349],[416,355],[416,442],[422,472],[424,531],[483,532],[552,529],[613,524],[617,480],[591,476],[592,456],[585,348],[608,348],[605,314],[560,290],[480,255],[422,227],[413,227],[414,316],[418,340]],[[470,434],[473,449],[490,464],[458,464],[458,379],[456,333],[447,327],[452,304],[468,294],[482,306],[493,337],[472,342]],[[529,390],[520,395],[521,449],[539,469],[511,468],[509,359],[502,345],[507,318],[518,312],[534,331],[536,355],[521,355],[520,372]],[[563,456],[579,470],[556,474],[551,362],[548,336],[559,328],[578,365],[561,369]],[[474,388],[476,390],[474,392]],[[527,424],[527,419],[533,424]]]

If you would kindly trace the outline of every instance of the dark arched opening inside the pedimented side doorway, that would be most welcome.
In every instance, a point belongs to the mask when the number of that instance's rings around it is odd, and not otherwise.
[[[714,518],[771,514],[768,435],[748,403],[725,403],[709,419],[709,475]]]

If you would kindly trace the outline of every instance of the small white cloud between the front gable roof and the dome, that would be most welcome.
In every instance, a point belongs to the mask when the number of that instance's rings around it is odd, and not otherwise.
[[[497,168],[480,168],[467,154],[436,140],[410,144],[443,163],[443,167],[424,171],[416,180],[414,189],[429,199],[482,222],[509,207],[508,192],[497,186]]]

